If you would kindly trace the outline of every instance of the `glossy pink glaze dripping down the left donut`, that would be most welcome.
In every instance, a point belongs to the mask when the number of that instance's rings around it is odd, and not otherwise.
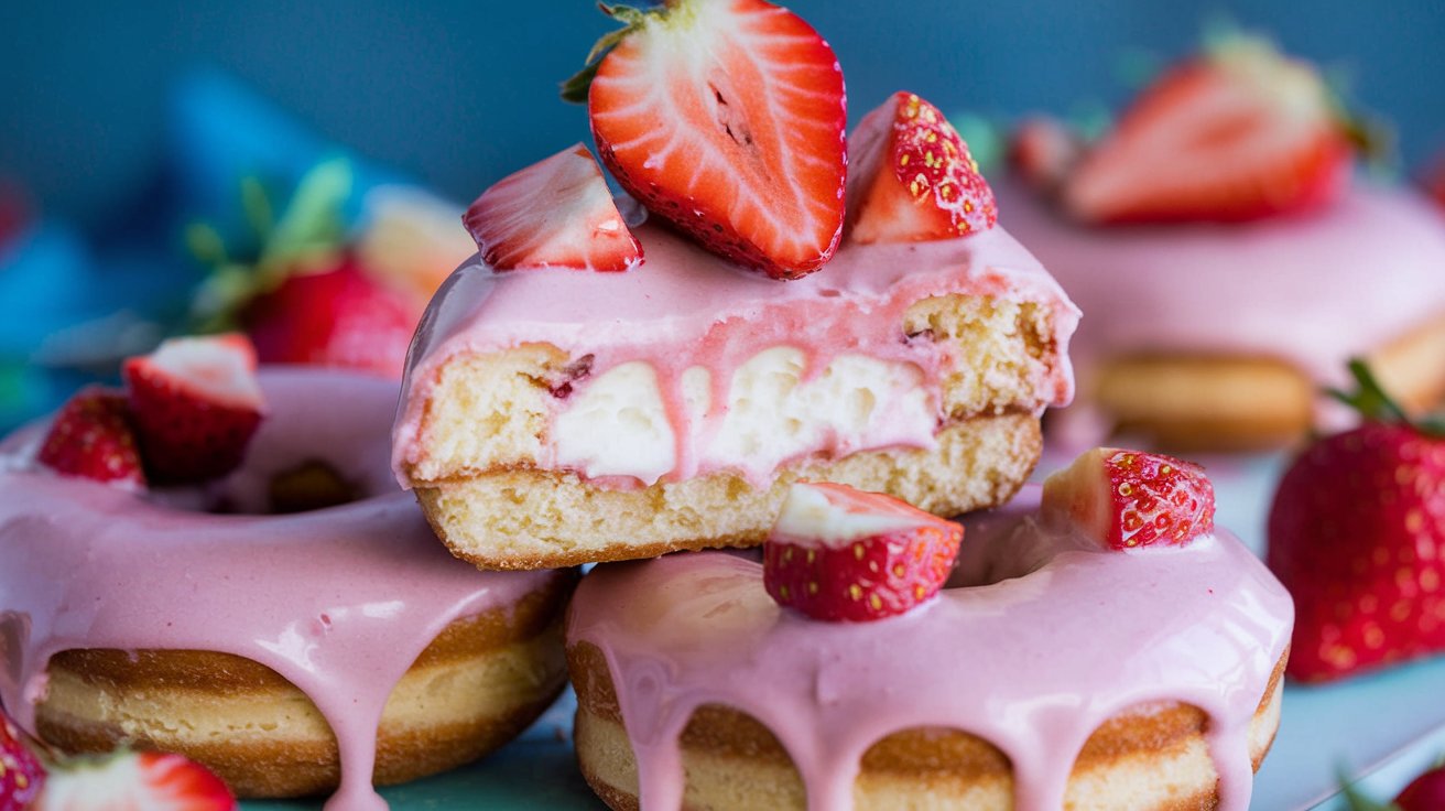
[[[263,370],[262,386],[269,416],[220,486],[230,502],[260,509],[270,476],[309,458],[377,494],[288,516],[184,512],[35,470],[35,429],[0,445],[0,701],[33,733],[46,662],[66,649],[236,653],[301,688],[335,731],[327,808],[384,810],[371,768],[392,687],[447,625],[556,572],[480,572],[447,554],[387,468],[396,383]]]

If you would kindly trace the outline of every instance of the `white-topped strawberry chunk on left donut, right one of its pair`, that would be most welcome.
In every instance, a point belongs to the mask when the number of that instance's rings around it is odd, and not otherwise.
[[[244,335],[165,341],[121,372],[155,481],[204,481],[241,463],[264,409]]]

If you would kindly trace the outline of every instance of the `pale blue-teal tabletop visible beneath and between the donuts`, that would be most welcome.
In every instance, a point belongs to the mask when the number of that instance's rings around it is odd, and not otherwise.
[[[1049,454],[1039,465],[1068,460]],[[1279,476],[1277,457],[1205,460],[1215,483],[1218,522],[1253,549],[1263,548],[1264,516]],[[1445,752],[1445,658],[1328,687],[1287,687],[1280,731],[1254,781],[1254,811],[1337,811],[1338,775],[1367,778],[1374,797],[1393,797],[1413,763]],[[393,811],[600,810],[572,758],[575,700],[568,692],[532,729],[487,760],[381,789]],[[312,802],[247,802],[247,811],[314,811]]]

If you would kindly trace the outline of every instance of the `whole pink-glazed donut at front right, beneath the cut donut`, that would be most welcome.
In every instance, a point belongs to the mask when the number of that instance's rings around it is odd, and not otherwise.
[[[1248,805],[1289,594],[1235,536],[1105,552],[1039,489],[877,622],[782,609],[736,552],[605,564],[568,610],[582,773],[616,810]]]

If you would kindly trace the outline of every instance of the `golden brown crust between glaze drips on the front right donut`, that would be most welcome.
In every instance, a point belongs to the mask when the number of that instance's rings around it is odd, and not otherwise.
[[[1267,723],[1269,714],[1277,713],[1280,679],[1287,658],[1286,649],[1260,697],[1254,714],[1256,723]],[[579,736],[585,737],[585,727],[591,718],[620,729],[621,710],[603,652],[588,642],[572,645],[568,648],[568,669],[577,690],[578,724],[584,727]],[[1277,717],[1273,721],[1277,724]],[[1160,753],[1178,753],[1192,742],[1202,740],[1207,726],[1205,713],[1188,704],[1126,710],[1105,720],[1090,736],[1074,763],[1072,775],[1108,769]],[[1256,771],[1273,743],[1273,734],[1274,729],[1270,727],[1261,746],[1253,747]],[[786,771],[790,772],[788,776],[790,781],[799,779],[777,737],[763,723],[731,707],[720,704],[698,707],[683,729],[681,742],[685,756],[705,755],[717,762],[757,773],[767,769]],[[588,785],[608,807],[617,811],[634,811],[637,797],[618,789],[590,769],[591,758],[588,742],[579,740],[578,760]],[[887,785],[892,781],[909,781],[925,786],[948,785],[949,791],[958,785],[987,786],[1004,797],[1012,797],[1013,791],[1012,765],[998,747],[967,731],[944,727],[902,730],[883,737],[864,753],[858,775],[860,788],[870,782]],[[796,791],[799,794],[793,799],[801,801],[801,782]],[[1215,808],[1217,804],[1217,791],[1208,791],[1176,798],[1155,808],[1159,811]]]

